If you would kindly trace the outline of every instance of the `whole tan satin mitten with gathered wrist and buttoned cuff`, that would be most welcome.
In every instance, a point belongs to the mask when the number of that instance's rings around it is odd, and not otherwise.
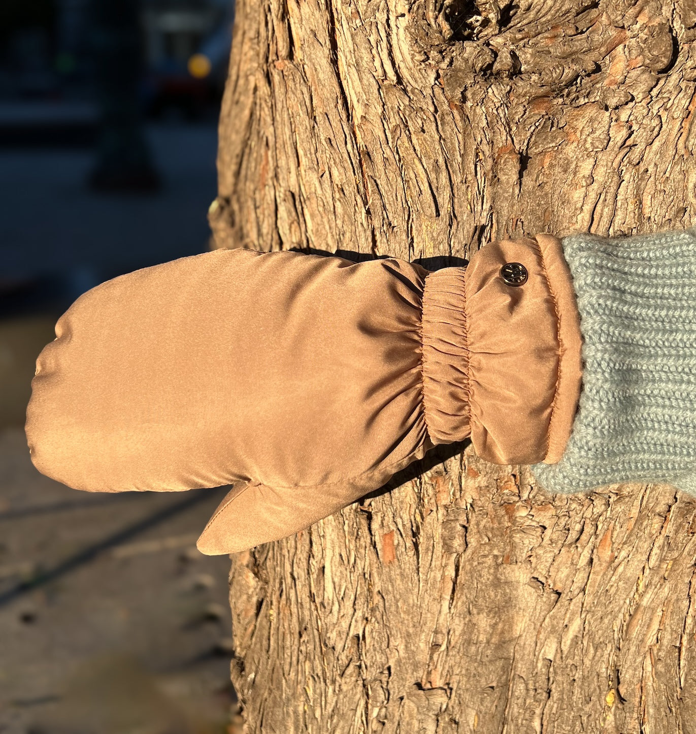
[[[233,484],[199,539],[232,553],[307,528],[437,443],[558,461],[580,380],[552,236],[436,272],[215,250],[79,297],[37,359],[26,436],[37,469],[79,490]]]

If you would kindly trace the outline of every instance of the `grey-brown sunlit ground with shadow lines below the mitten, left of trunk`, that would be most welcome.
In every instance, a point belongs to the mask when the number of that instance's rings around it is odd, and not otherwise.
[[[0,433],[0,732],[224,731],[230,560],[194,545],[224,492],[70,490]]]

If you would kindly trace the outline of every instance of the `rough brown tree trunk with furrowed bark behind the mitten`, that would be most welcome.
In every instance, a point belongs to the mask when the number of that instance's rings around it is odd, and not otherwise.
[[[215,246],[434,269],[689,226],[695,26],[687,0],[239,0]],[[696,733],[696,500],[437,451],[232,556],[245,731]]]

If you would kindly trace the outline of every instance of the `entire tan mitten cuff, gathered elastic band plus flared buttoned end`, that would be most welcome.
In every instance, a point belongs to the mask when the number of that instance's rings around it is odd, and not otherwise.
[[[502,275],[510,263],[527,278]],[[494,241],[464,268],[428,274],[423,392],[433,443],[471,435],[495,464],[557,462],[582,384],[582,337],[560,240]]]

